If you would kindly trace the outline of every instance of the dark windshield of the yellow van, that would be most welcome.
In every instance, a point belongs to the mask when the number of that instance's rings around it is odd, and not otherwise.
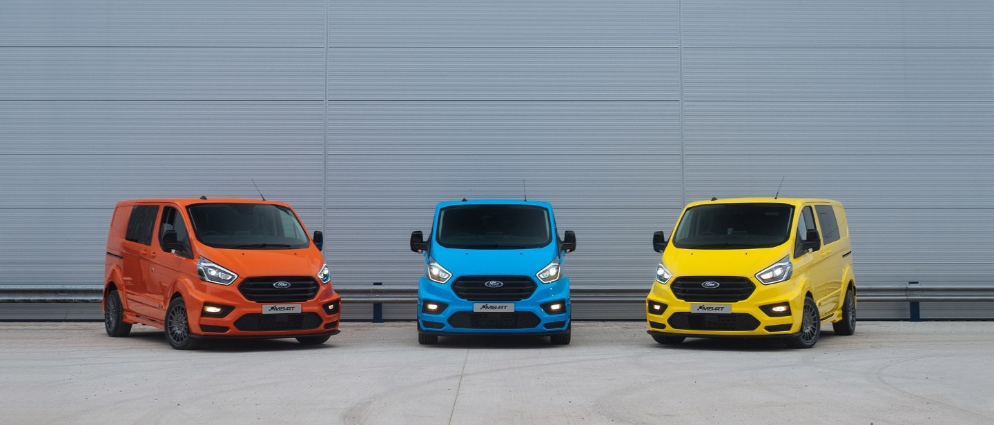
[[[769,248],[790,237],[794,208],[785,204],[715,204],[687,210],[673,246],[703,249]]]

